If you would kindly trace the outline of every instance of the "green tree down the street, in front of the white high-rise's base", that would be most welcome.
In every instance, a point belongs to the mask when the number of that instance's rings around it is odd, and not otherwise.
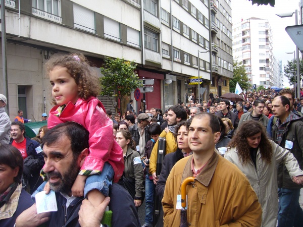
[[[243,66],[242,63],[233,61],[233,73],[234,73],[233,79],[229,80],[229,91],[235,92],[237,82],[242,90],[244,89],[247,90],[248,78],[246,75],[245,66]]]

